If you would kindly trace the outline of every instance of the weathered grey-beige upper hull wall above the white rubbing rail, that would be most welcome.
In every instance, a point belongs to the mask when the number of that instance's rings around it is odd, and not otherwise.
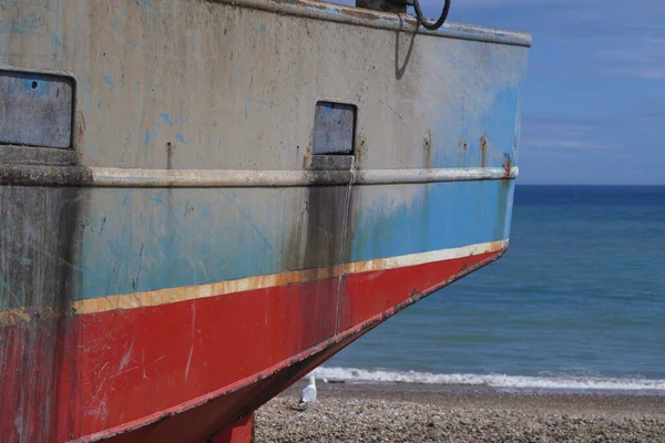
[[[350,24],[361,10],[329,3],[299,8],[337,21],[242,4],[6,3],[16,31],[0,65],[75,78],[85,166],[304,169],[319,101],[357,106],[360,168],[501,166],[513,155],[528,48],[491,42],[499,32],[466,40],[409,21],[398,31],[398,16],[379,12],[356,20],[375,28]]]

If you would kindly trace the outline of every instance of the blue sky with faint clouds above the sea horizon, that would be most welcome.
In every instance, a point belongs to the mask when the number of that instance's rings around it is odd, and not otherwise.
[[[532,35],[518,184],[665,184],[665,0],[452,0],[448,20]]]

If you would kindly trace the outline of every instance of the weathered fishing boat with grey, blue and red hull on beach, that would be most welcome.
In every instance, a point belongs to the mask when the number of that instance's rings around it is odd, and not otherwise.
[[[505,253],[531,39],[419,11],[0,2],[0,441],[252,441]]]

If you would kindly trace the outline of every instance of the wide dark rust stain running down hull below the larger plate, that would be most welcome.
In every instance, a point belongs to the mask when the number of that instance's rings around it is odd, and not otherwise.
[[[70,169],[86,176],[85,168]],[[18,182],[27,177],[25,172],[0,171]],[[2,312],[7,318],[0,318],[0,347],[14,350],[11,354],[0,350],[0,363],[11,369],[0,370],[0,410],[16,411],[12,425],[21,441],[51,441],[58,398],[74,389],[70,379],[54,374],[62,375],[63,354],[76,346],[59,317],[70,310],[81,277],[72,265],[80,241],[80,193],[71,187],[0,187],[0,276],[3,292],[11,293],[0,300],[11,303]],[[7,321],[24,322],[24,328],[6,328]],[[18,392],[11,385],[22,387],[21,394],[11,395]]]

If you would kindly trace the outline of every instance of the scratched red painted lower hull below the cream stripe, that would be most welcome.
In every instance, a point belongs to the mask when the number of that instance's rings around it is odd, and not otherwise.
[[[205,441],[501,254],[6,327],[0,440]],[[34,361],[20,360],[24,346],[39,348]],[[52,378],[27,399],[18,387],[43,371]],[[33,427],[18,429],[18,413]]]

